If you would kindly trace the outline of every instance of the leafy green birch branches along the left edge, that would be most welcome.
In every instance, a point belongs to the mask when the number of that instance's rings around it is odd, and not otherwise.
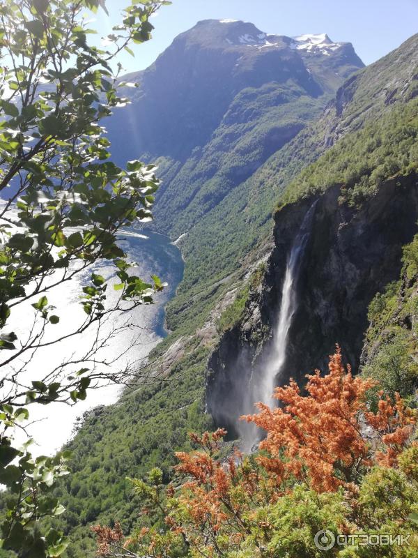
[[[65,312],[49,304],[47,292],[85,276],[101,260],[113,266],[117,303],[106,305],[107,281],[91,273],[80,287],[84,323],[71,336],[111,312],[152,303],[163,287],[157,277],[146,282],[132,271],[117,240],[122,227],[152,218],[155,167],[138,160],[115,165],[104,119],[128,102],[118,94],[118,54],[132,54],[132,43],[150,38],[150,17],[167,3],[133,1],[104,47],[92,43],[88,23],[92,13],[106,11],[104,0],[0,3],[0,483],[11,495],[0,554],[56,557],[67,545],[61,533],[42,532],[40,524],[45,515],[64,511],[52,489],[68,473],[68,455],[33,458],[31,440],[22,448],[14,442],[30,405],[74,404],[91,386],[88,368],[64,379],[42,370],[28,384],[17,365],[62,340],[50,340]],[[10,327],[22,304],[33,324],[24,338]]]

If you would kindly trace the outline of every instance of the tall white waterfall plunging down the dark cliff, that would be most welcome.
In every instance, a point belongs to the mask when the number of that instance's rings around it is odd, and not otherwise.
[[[286,263],[286,273],[281,289],[281,303],[273,330],[272,342],[268,347],[268,354],[263,358],[256,373],[251,376],[247,398],[249,406],[252,408],[257,401],[274,405],[272,395],[286,361],[288,335],[293,315],[297,309],[297,280],[300,275],[304,251],[311,234],[317,201],[311,205],[304,216]],[[239,430],[242,435],[242,451],[247,453],[260,441],[260,432],[254,425],[248,425],[247,423],[242,423]]]

